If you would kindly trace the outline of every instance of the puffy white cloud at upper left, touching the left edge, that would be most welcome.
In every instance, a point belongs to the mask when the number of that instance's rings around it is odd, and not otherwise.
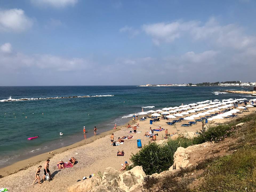
[[[33,25],[33,19],[27,17],[22,9],[0,10],[0,32],[21,32]]]

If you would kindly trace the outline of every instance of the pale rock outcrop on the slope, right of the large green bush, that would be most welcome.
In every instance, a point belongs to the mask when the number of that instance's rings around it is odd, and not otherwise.
[[[192,145],[187,148],[178,147],[177,151],[174,153],[173,157],[173,166],[170,167],[169,170],[173,169],[181,169],[184,167],[189,167],[192,164],[189,162],[190,154],[193,152],[200,150],[203,147],[207,147],[213,145],[212,143],[206,142],[198,145]]]

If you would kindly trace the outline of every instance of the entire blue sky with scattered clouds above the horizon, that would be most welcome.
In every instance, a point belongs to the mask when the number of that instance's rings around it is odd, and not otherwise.
[[[256,81],[256,1],[2,0],[0,86]]]

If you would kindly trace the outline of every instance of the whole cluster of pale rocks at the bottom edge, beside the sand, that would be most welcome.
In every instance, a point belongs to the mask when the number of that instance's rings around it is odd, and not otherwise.
[[[108,167],[101,178],[91,177],[69,187],[69,192],[137,192],[145,173],[142,166],[136,166],[120,174],[119,171]]]

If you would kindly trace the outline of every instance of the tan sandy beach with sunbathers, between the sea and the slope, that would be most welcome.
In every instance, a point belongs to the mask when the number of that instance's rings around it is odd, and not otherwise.
[[[252,110],[251,110],[252,111]],[[244,112],[238,114],[239,117],[247,115],[251,112]],[[178,119],[178,118],[177,118]],[[170,119],[169,121],[172,121]],[[216,119],[215,123],[224,123],[229,121],[229,118]],[[11,166],[4,167],[0,169],[0,175],[4,176],[0,178],[0,187],[9,187],[10,191],[67,191],[67,188],[75,183],[77,180],[84,176],[89,176],[94,173],[97,174],[98,171],[101,173],[107,167],[113,167],[119,170],[121,168],[121,163],[128,161],[130,164],[130,156],[132,153],[136,153],[139,149],[137,148],[137,139],[141,139],[142,146],[149,142],[149,138],[145,137],[145,131],[149,130],[149,127],[155,129],[161,125],[162,128],[168,129],[169,133],[177,132],[196,132],[202,128],[202,123],[199,122],[191,127],[181,127],[181,123],[177,123],[176,127],[166,124],[167,120],[160,120],[159,122],[150,125],[149,119],[146,121],[134,121],[129,122],[131,125],[139,123],[139,128],[137,131],[139,133],[132,133],[134,138],[125,139],[125,142],[119,146],[110,145],[110,134],[114,133],[114,140],[116,141],[118,137],[123,135],[130,135],[130,131],[126,126],[120,126],[117,130],[110,130],[96,137],[91,137],[85,139],[81,142],[75,143],[74,145],[63,147],[58,150],[54,150],[53,153],[44,153],[41,155],[34,156],[32,158],[26,159],[14,163]],[[211,121],[209,122],[211,123]],[[141,131],[141,132],[140,132]],[[154,133],[156,133],[155,131]],[[157,136],[157,142],[162,140],[164,136],[164,131],[159,131]],[[171,138],[177,137],[177,134]],[[117,156],[117,151],[123,150],[125,152],[124,156]],[[63,160],[67,162],[70,157],[75,157],[77,159],[77,164],[74,167],[58,170],[57,162]],[[49,170],[53,175],[53,180],[50,182],[43,182],[41,186],[36,183],[31,186],[34,178],[35,171],[39,165],[44,165],[46,159],[50,159]],[[11,174],[12,173],[12,174]],[[43,177],[43,168],[41,169],[40,178]]]

